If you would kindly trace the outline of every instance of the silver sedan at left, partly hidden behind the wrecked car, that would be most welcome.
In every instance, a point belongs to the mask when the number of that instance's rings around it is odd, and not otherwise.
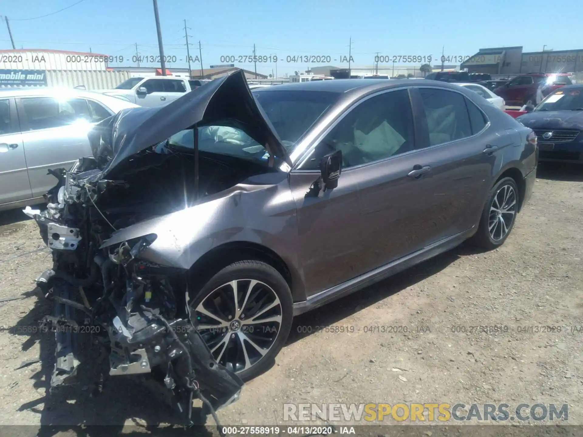
[[[134,107],[77,89],[0,90],[0,210],[42,202],[55,185],[48,170],[91,156],[89,129]]]

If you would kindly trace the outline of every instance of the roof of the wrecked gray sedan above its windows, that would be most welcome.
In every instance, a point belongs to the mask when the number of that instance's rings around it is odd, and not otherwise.
[[[452,85],[438,80],[427,79],[335,79],[316,80],[314,82],[283,83],[278,86],[264,87],[257,89],[257,93],[275,93],[279,91],[329,91],[332,93],[346,93],[347,91],[374,91],[384,90],[402,86],[438,86],[442,88],[455,89]]]

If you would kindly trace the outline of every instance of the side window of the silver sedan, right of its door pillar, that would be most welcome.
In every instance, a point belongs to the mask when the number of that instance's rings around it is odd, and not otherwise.
[[[29,131],[58,128],[78,119],[91,121],[89,105],[83,98],[60,101],[52,97],[22,98],[22,109]]]

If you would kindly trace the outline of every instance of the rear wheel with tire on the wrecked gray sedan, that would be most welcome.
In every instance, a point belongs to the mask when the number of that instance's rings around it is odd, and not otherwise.
[[[473,242],[489,251],[503,245],[514,227],[519,200],[514,179],[500,179],[486,200]]]

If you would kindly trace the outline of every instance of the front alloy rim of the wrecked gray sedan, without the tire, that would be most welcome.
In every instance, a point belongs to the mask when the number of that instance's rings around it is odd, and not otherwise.
[[[194,310],[196,329],[215,360],[243,372],[269,352],[282,325],[282,304],[267,284],[238,279],[211,291]]]

